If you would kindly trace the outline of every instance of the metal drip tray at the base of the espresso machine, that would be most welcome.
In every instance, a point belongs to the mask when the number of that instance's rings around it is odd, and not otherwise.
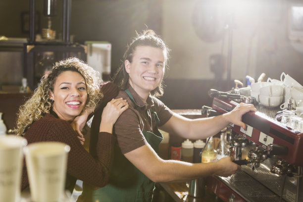
[[[280,202],[280,196],[242,170],[230,177],[218,178],[247,202]]]

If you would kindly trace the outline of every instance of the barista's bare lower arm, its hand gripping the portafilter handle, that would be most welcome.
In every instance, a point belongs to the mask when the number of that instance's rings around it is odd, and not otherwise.
[[[124,155],[153,182],[188,181],[208,175],[227,177],[241,169],[239,165],[231,161],[231,157],[210,163],[163,160],[150,145],[144,145]]]

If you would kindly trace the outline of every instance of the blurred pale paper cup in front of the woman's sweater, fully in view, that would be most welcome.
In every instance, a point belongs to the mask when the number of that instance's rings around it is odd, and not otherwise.
[[[31,198],[57,202],[64,198],[67,156],[70,147],[59,142],[39,142],[24,148]]]

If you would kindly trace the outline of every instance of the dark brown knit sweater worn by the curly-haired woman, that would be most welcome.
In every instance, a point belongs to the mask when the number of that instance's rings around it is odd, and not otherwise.
[[[97,159],[93,158],[80,144],[76,132],[71,125],[53,114],[46,114],[41,119],[35,121],[26,131],[28,145],[35,142],[56,141],[70,146],[67,163],[67,179],[72,176],[96,187],[103,187],[107,184],[110,175],[113,146],[115,138],[110,133],[101,132],[98,134]],[[73,189],[72,185],[68,188]],[[29,181],[27,176],[26,165],[23,166],[22,187],[27,189]]]

